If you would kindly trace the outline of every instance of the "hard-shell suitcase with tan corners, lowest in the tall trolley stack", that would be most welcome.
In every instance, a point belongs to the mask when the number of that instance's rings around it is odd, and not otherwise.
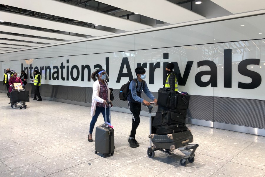
[[[177,149],[193,142],[193,135],[189,129],[183,132],[167,135],[151,134],[150,138],[153,142],[154,148],[162,149]]]

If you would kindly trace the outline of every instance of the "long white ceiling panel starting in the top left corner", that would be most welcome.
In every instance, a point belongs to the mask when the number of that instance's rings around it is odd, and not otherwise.
[[[36,12],[55,15],[58,17],[65,17],[75,19],[82,22],[99,24],[106,27],[116,28],[125,31],[135,31],[141,29],[152,28],[153,26],[146,25],[139,22],[134,22],[125,18],[112,16],[102,12],[97,12],[90,9],[85,9],[79,6],[64,3],[55,0],[0,0],[0,4],[5,4],[14,7],[20,7]],[[139,6],[139,5],[138,5]],[[53,29],[53,28],[51,28]],[[91,28],[93,29],[93,28]],[[95,30],[95,29],[94,29]],[[80,33],[84,34],[84,33]],[[85,33],[87,34],[87,33]],[[87,35],[92,35],[87,34]],[[104,34],[107,35],[107,34]],[[103,36],[103,35],[92,35]]]

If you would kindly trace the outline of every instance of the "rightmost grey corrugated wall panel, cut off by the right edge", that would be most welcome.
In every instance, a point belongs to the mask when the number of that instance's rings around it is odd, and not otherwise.
[[[264,100],[214,97],[214,122],[265,129]]]

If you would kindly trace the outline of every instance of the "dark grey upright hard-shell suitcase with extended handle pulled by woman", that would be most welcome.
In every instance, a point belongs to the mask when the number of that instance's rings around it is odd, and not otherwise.
[[[107,101],[108,102],[108,101]],[[108,102],[110,105],[110,102]],[[107,122],[107,112],[105,105],[105,122]],[[111,118],[111,117],[110,117]],[[110,121],[111,122],[111,121]],[[95,153],[103,154],[103,157],[106,155],[114,153],[114,130],[107,123],[104,123],[96,127],[95,134]]]

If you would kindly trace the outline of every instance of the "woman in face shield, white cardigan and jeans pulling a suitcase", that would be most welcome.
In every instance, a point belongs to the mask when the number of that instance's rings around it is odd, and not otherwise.
[[[110,107],[107,101],[110,101],[110,89],[107,84],[109,76],[104,69],[97,69],[91,74],[91,79],[95,81],[93,84],[93,94],[91,103],[91,116],[90,129],[88,134],[88,141],[93,142],[92,133],[97,122],[97,117],[102,113],[105,122],[105,105],[107,113],[107,122],[110,122]],[[112,104],[111,104],[112,106]]]

